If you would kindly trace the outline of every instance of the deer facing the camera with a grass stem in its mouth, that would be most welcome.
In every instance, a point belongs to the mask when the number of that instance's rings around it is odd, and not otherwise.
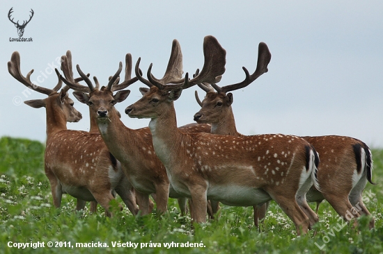
[[[182,76],[182,53],[180,45],[175,41],[173,54],[176,58],[169,60],[169,65],[163,80],[170,81],[173,76]],[[172,61],[176,60],[176,61]],[[61,79],[69,85],[76,98],[89,105],[91,115],[97,121],[98,129],[109,151],[123,164],[125,174],[136,189],[136,198],[139,202],[141,214],[148,213],[149,195],[155,194],[157,212],[164,213],[167,210],[169,197],[178,198],[180,210],[185,214],[186,198],[174,191],[169,183],[166,169],[162,162],[155,155],[152,137],[148,128],[133,130],[127,128],[118,117],[114,105],[124,101],[129,95],[129,90],[118,91],[113,94],[116,86],[116,79],[122,70],[121,63],[116,74],[109,80],[106,87],[94,87],[91,80],[81,71],[77,65],[77,71],[88,87],[68,81],[61,76]],[[97,78],[95,83],[97,84]],[[192,124],[180,127],[185,132],[210,133],[208,124]],[[205,207],[206,213],[207,207]],[[210,209],[208,209],[210,211]]]

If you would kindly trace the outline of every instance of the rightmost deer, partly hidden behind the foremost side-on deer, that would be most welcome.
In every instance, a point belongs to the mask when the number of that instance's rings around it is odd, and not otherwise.
[[[219,87],[215,83],[198,84],[206,92],[206,96],[201,102],[196,92],[196,100],[201,105],[201,110],[194,115],[194,120],[198,123],[212,124],[212,133],[214,134],[243,136],[237,132],[235,127],[231,108],[233,94],[230,91],[246,87],[267,72],[267,64],[270,59],[271,54],[267,45],[261,42],[258,49],[256,71],[249,75],[249,71],[243,67],[246,74],[244,81],[224,87]],[[371,178],[373,161],[368,146],[358,139],[336,135],[303,138],[312,144],[320,155],[317,175],[320,191],[313,186],[306,194],[308,202],[317,203],[316,213],[318,214],[319,204],[326,199],[336,212],[347,221],[352,217],[357,218],[361,214],[370,215],[361,198],[367,181],[373,183]],[[256,225],[258,225],[258,217],[259,219],[265,217],[267,206],[268,203],[260,208],[254,207]],[[347,213],[353,215],[346,216]],[[373,226],[374,220],[370,222],[370,228]]]

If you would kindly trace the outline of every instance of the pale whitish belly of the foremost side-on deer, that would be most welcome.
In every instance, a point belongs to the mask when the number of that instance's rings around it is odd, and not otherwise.
[[[208,189],[208,199],[225,205],[250,206],[265,203],[272,198],[263,189],[238,185],[214,185]]]

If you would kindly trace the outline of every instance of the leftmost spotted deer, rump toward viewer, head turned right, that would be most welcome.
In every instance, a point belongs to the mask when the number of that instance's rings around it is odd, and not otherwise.
[[[68,96],[69,87],[65,86],[58,92],[62,85],[60,78],[53,90],[31,83],[33,69],[26,77],[22,75],[17,51],[8,62],[8,71],[23,85],[48,96],[24,103],[33,108],[46,108],[45,174],[51,185],[54,206],[59,208],[62,194],[67,193],[77,198],[77,210],[83,209],[86,201],[97,201],[109,212],[109,202],[114,198],[112,193],[116,190],[127,208],[132,214],[136,214],[138,208],[134,189],[100,135],[67,129],[67,121],[81,119],[81,114],[73,107],[73,101]],[[68,74],[73,83],[79,81],[72,77],[71,69]]]

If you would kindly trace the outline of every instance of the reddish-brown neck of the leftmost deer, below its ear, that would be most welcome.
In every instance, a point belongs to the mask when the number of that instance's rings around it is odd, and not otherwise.
[[[63,110],[53,101],[55,98],[49,98],[45,106],[47,112],[47,136],[57,133],[60,130],[67,130],[66,119]]]

